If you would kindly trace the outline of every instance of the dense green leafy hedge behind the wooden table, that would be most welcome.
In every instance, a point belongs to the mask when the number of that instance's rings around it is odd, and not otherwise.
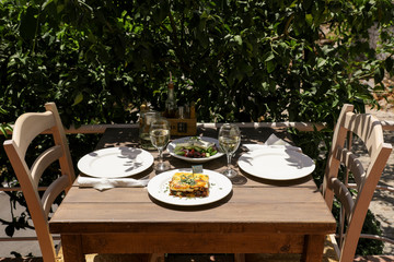
[[[393,13],[390,0],[3,0],[0,129],[46,102],[67,127],[135,122],[143,102],[163,109],[172,72],[179,105],[196,102],[199,121],[327,123],[294,133],[322,174],[341,105],[362,111],[374,103],[363,81],[383,88],[394,72]],[[71,150],[93,144],[76,140]],[[0,151],[0,180],[12,182]]]

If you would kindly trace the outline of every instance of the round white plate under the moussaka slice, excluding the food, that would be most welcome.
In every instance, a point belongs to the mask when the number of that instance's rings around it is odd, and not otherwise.
[[[204,198],[178,198],[170,195],[170,186],[173,175],[178,171],[192,172],[190,168],[174,169],[162,172],[152,178],[148,183],[148,192],[154,199],[174,205],[202,205],[213,203],[227,196],[232,190],[230,179],[219,172],[204,169],[205,175],[209,176],[209,195]]]

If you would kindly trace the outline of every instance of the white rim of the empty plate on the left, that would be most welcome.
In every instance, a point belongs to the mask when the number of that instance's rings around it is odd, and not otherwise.
[[[125,172],[125,174],[120,174],[120,175],[116,175],[116,174],[113,174],[112,176],[97,176],[97,175],[94,175],[92,174],[91,171],[89,171],[89,168],[86,168],[85,166],[82,166],[84,164],[84,162],[88,162],[89,158],[92,158],[93,156],[91,156],[91,154],[93,153],[96,153],[96,154],[102,154],[103,152],[111,152],[111,151],[118,151],[118,150],[121,150],[121,148],[135,148],[135,150],[140,150],[143,154],[143,157],[148,157],[148,164],[146,166],[142,166],[142,167],[138,167],[129,172]],[[86,176],[90,176],[90,177],[94,177],[94,178],[126,178],[126,177],[130,177],[130,176],[135,176],[135,175],[138,175],[144,170],[147,170],[148,168],[150,168],[152,166],[154,162],[154,157],[151,153],[149,153],[148,151],[146,150],[142,150],[142,148],[139,148],[139,147],[135,147],[135,146],[114,146],[114,147],[105,147],[105,148],[101,148],[101,150],[95,150],[95,151],[92,151],[85,155],[83,155],[77,163],[77,167],[78,169],[86,175]]]

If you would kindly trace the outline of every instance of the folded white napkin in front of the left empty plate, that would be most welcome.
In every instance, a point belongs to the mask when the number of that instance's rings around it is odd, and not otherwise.
[[[78,177],[80,188],[95,188],[100,191],[111,188],[130,188],[130,187],[146,187],[149,179],[132,179],[132,178],[91,178]]]

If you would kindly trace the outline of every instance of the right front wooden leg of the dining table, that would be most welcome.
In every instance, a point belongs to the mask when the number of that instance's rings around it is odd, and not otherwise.
[[[304,249],[301,257],[303,262],[317,262],[323,259],[324,235],[305,236]]]

